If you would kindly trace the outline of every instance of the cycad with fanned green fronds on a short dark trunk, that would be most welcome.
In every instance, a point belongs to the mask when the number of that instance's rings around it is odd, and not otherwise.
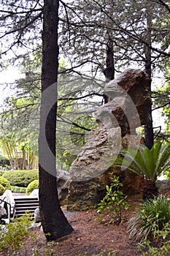
[[[114,165],[144,177],[143,199],[146,200],[152,198],[153,195],[158,195],[155,181],[163,170],[169,167],[170,144],[162,145],[160,141],[157,141],[151,149],[140,145],[138,151],[134,148],[127,148],[123,149],[121,154],[123,157],[117,157]]]

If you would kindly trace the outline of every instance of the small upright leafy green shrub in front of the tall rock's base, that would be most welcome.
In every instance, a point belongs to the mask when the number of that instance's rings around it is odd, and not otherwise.
[[[109,223],[116,222],[116,224],[120,224],[122,220],[122,208],[125,208],[125,210],[130,208],[129,204],[125,202],[127,196],[120,191],[120,187],[123,187],[123,184],[119,181],[119,177],[113,176],[110,187],[108,185],[106,186],[107,195],[98,203],[98,214],[104,213],[104,211],[109,209],[115,215]]]

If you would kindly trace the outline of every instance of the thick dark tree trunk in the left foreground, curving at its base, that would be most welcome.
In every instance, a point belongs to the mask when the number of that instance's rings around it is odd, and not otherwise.
[[[42,33],[42,101],[39,129],[39,210],[47,241],[72,233],[58,200],[55,131],[58,77],[58,0],[45,0]]]

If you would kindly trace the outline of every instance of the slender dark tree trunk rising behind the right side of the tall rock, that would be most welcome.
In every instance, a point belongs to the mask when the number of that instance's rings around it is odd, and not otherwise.
[[[152,15],[150,12],[150,6],[148,6],[148,2],[145,2],[146,5],[146,16],[147,16],[147,31],[146,31],[146,39],[148,45],[145,47],[145,72],[150,77],[150,94],[151,94],[151,76],[152,76],[152,64],[151,64],[151,44],[152,44]],[[152,102],[150,102],[150,107],[148,109],[148,121],[144,127],[144,143],[147,148],[152,148],[154,143],[154,134],[152,127]]]

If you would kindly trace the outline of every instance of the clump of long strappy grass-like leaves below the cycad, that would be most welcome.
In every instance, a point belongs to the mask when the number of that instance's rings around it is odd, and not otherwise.
[[[136,215],[128,221],[128,232],[136,240],[153,239],[168,222],[170,203],[167,196],[159,195],[138,206]]]

